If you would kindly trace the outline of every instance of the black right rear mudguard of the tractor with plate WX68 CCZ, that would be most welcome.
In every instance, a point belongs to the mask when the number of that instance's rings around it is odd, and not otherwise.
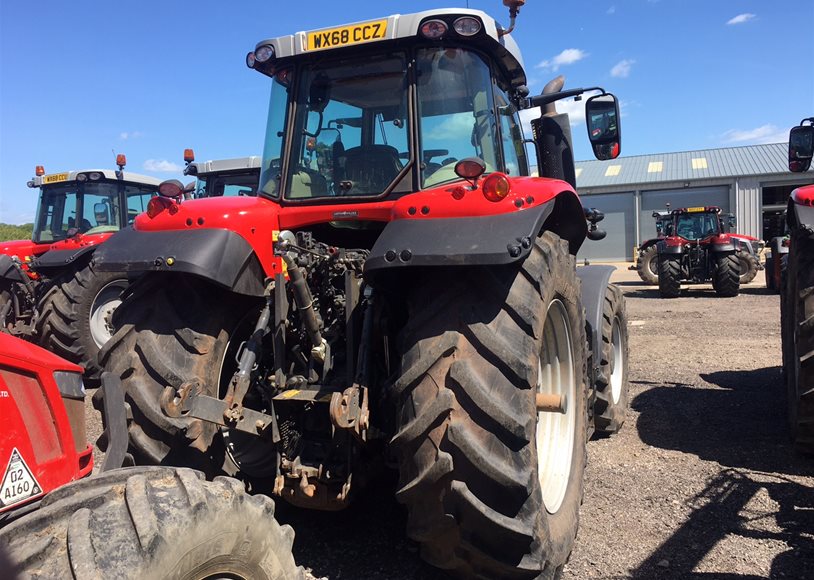
[[[387,224],[365,262],[365,276],[419,266],[497,266],[526,258],[555,200],[480,217],[400,219]]]

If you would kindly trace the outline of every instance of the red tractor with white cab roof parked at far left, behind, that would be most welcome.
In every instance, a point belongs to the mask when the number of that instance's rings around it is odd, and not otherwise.
[[[91,257],[100,244],[133,223],[158,192],[159,181],[124,171],[66,171],[38,166],[28,182],[39,188],[30,240],[0,243],[0,332],[31,340],[85,367],[98,383],[99,347],[111,336],[110,314],[126,275],[99,272]]]

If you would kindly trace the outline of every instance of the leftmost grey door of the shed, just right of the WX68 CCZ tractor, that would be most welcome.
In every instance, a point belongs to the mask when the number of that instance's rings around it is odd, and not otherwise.
[[[595,207],[605,213],[599,228],[608,232],[604,240],[585,240],[577,258],[597,262],[623,262],[633,259],[636,229],[633,223],[635,206],[633,193],[603,193],[583,195],[582,205]]]

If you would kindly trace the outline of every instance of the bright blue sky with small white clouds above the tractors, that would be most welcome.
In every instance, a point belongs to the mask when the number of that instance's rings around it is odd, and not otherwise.
[[[168,179],[185,147],[260,154],[270,83],[244,59],[262,39],[466,4],[3,0],[0,222],[33,219],[35,165],[114,168],[115,151]],[[508,24],[500,0],[469,6]],[[785,141],[814,115],[813,22],[814,0],[528,0],[513,35],[532,93],[558,74],[604,86],[622,102],[622,154],[640,155]]]

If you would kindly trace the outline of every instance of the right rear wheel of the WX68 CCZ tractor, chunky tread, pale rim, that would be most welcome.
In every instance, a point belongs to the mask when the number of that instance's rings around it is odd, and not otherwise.
[[[586,460],[585,321],[568,244],[521,265],[433,272],[409,296],[392,445],[407,533],[465,578],[555,578]],[[565,395],[538,413],[537,393]]]

